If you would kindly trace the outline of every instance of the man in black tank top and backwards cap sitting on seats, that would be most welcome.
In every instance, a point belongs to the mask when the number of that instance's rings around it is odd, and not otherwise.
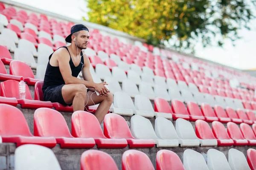
[[[71,45],[58,48],[49,56],[42,90],[45,101],[73,105],[73,111],[84,111],[86,104],[100,103],[95,116],[101,123],[113,102],[113,94],[104,86],[106,82],[93,82],[90,61],[82,52],[87,48],[89,37],[86,26],[79,24],[71,28],[66,38]],[[84,80],[77,78],[80,71]]]

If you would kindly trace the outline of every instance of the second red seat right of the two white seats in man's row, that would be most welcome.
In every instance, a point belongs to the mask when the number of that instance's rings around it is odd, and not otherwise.
[[[179,100],[172,100],[172,112],[174,113],[172,114],[173,120],[178,118],[189,120],[189,113],[186,109],[186,106]]]

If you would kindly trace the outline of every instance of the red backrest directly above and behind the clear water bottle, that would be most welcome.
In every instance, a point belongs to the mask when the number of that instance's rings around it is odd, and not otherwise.
[[[12,60],[10,62],[10,74],[24,78],[35,79],[32,69],[25,62]]]

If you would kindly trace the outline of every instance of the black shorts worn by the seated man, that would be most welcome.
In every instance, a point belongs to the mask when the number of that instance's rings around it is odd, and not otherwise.
[[[44,101],[58,102],[62,105],[72,106],[73,103],[67,104],[62,96],[61,89],[64,85],[50,86],[44,91]],[[87,92],[89,90],[87,89]]]

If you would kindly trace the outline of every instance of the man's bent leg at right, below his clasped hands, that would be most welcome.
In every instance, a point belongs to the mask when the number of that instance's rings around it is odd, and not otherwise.
[[[88,95],[86,95],[85,104],[88,101],[88,96],[89,101],[86,106],[94,105],[94,103],[97,105],[100,103],[94,115],[99,120],[99,123],[101,123],[105,115],[108,113],[111,104],[113,103],[113,94],[108,93],[106,96],[97,96],[97,94],[93,93],[92,91],[88,91],[87,94]]]

